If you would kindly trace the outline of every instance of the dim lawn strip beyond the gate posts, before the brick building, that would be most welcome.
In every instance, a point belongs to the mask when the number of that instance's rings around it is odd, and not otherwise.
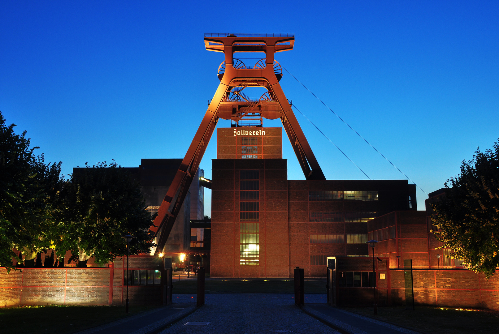
[[[197,289],[196,281],[175,281],[173,282],[174,294],[195,294]],[[205,293],[265,293],[265,294],[292,294],[294,293],[294,281],[280,280],[207,280],[205,281]],[[305,280],[306,294],[325,294],[326,280]]]

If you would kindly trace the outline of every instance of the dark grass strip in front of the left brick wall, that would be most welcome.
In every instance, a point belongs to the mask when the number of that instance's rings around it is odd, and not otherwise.
[[[151,310],[154,306],[16,306],[0,309],[0,333],[69,334]]]

